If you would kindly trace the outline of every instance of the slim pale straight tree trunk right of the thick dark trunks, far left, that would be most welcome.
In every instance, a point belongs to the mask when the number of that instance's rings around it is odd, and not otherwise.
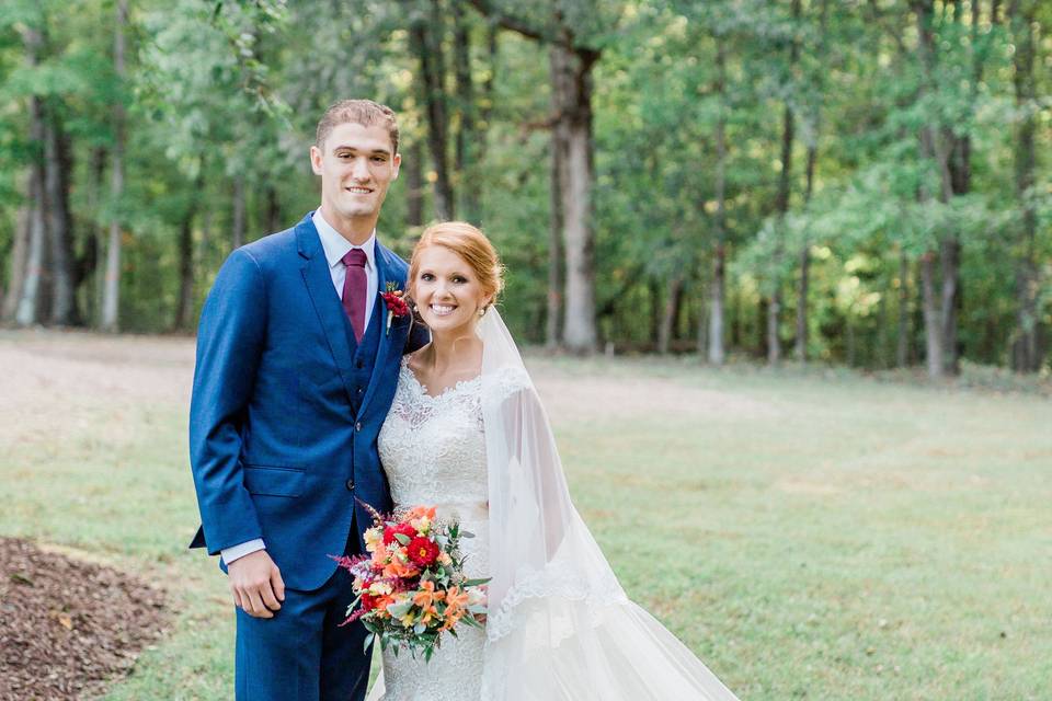
[[[124,27],[128,16],[127,0],[117,0],[115,7],[113,69],[119,83],[124,82]],[[110,195],[119,212],[119,203],[124,194],[124,104],[115,100],[113,104],[113,166],[110,179]],[[121,216],[114,214],[110,222],[110,237],[106,244],[106,277],[102,297],[102,329],[118,330],[118,310],[121,306]]]

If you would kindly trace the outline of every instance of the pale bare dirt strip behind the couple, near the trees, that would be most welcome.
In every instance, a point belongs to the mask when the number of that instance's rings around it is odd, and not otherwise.
[[[705,389],[649,372],[576,367],[527,356],[553,421],[585,412],[596,420],[676,412],[699,418],[779,411],[737,393]],[[112,412],[144,403],[185,406],[194,370],[194,341],[185,336],[107,336],[91,333],[0,332],[0,444],[38,440],[56,422],[89,424],[103,405]],[[118,426],[111,427],[118,430]]]

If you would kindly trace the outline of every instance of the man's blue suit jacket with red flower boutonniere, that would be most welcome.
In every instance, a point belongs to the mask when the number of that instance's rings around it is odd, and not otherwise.
[[[395,319],[353,411],[352,348],[321,240],[308,214],[227,258],[201,314],[190,457],[209,554],[263,538],[287,587],[320,587],[335,571],[357,497],[391,506],[376,439],[404,352],[426,343]],[[408,266],[376,243],[379,290],[404,289]],[[387,322],[384,301],[378,317]],[[412,337],[410,332],[412,331]]]

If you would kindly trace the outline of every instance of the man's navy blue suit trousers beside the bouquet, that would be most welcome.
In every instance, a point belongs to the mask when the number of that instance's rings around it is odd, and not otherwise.
[[[345,554],[358,551],[355,529],[351,532]],[[364,651],[367,631],[357,621],[339,625],[354,600],[351,582],[347,571],[338,568],[319,589],[286,589],[271,619],[237,609],[237,701],[365,699],[371,659]]]

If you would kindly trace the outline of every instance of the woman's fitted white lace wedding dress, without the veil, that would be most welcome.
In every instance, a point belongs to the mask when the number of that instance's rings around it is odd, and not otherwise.
[[[474,533],[460,544],[471,577],[489,572],[481,393],[481,378],[474,378],[431,397],[403,359],[378,441],[396,509],[434,506],[439,518],[456,518],[464,530]],[[386,651],[384,701],[479,699],[484,643],[484,631],[464,627],[457,629],[457,637],[444,637],[430,663]]]

